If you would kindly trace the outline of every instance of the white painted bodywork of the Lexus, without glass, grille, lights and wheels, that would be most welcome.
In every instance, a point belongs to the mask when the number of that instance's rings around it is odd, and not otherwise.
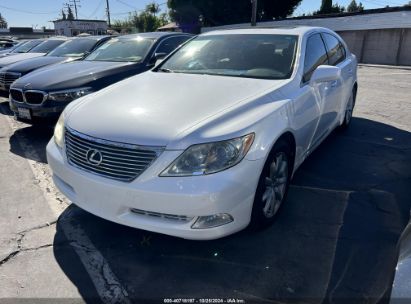
[[[357,62],[345,45],[338,79],[302,82],[307,37],[335,33],[313,27],[245,29],[204,35],[298,35],[295,68],[289,79],[267,80],[149,71],[71,103],[65,125],[94,138],[164,147],[161,155],[130,183],[88,173],[68,164],[54,140],[47,157],[57,187],[81,208],[102,218],[187,239],[214,239],[245,228],[269,152],[286,132],[295,139],[293,172],[345,117],[356,83]],[[339,38],[341,40],[341,38]],[[342,40],[341,40],[342,41]],[[254,133],[253,145],[237,165],[210,175],[160,177],[188,147]],[[184,215],[186,223],[140,215],[131,208]],[[227,213],[233,221],[192,229],[199,216]]]

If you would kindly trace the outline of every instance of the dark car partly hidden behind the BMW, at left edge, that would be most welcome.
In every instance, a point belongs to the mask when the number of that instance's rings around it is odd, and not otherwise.
[[[82,59],[109,40],[111,36],[88,36],[70,39],[46,56],[22,60],[0,69],[0,90],[8,91],[10,85],[21,76],[36,69],[63,62]]]

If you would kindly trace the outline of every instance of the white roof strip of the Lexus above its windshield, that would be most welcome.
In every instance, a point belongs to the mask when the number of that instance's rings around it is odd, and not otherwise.
[[[277,34],[277,35],[298,35],[302,36],[312,31],[329,31],[328,29],[314,26],[279,26],[279,27],[254,27],[242,29],[224,29],[215,30],[202,34],[202,36],[209,35],[241,35],[241,34]]]

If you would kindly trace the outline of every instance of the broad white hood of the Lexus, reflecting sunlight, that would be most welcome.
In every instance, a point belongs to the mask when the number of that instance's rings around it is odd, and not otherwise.
[[[66,122],[97,138],[182,149],[200,125],[285,82],[149,71],[72,103]]]

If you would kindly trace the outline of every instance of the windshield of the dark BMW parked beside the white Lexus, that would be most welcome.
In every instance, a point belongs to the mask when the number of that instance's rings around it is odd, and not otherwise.
[[[147,55],[153,39],[112,39],[91,53],[85,60],[140,62]]]

